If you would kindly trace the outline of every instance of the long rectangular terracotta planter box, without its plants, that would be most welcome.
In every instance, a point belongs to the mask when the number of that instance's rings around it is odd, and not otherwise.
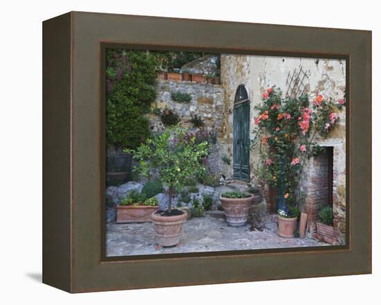
[[[116,207],[116,223],[150,223],[151,214],[159,209],[150,205],[118,205]]]

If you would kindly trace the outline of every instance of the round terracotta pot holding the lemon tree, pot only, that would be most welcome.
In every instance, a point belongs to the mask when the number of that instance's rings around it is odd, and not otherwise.
[[[159,245],[170,247],[179,243],[183,234],[183,225],[188,217],[186,211],[183,212],[177,216],[151,214],[151,219],[154,222],[154,234]]]

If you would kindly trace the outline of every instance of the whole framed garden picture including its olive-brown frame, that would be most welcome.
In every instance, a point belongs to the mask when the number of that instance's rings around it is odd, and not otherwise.
[[[69,12],[43,112],[45,284],[371,273],[369,31]]]

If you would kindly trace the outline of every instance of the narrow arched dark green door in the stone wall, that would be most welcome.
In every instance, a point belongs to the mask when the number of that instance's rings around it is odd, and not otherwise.
[[[250,180],[250,101],[245,85],[239,85],[233,110],[233,177]]]

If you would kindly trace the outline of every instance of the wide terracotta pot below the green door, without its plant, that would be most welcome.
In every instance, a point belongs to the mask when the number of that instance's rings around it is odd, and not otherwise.
[[[222,209],[229,225],[238,227],[247,223],[254,196],[248,198],[224,198],[220,196]]]

